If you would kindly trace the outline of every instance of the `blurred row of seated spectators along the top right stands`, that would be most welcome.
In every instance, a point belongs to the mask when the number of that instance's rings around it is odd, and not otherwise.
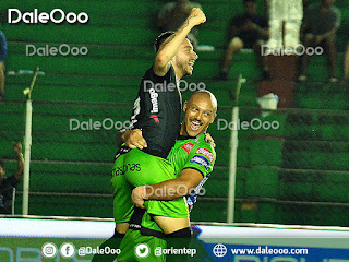
[[[328,82],[337,79],[336,35],[341,24],[340,10],[335,0],[318,0],[309,4],[306,0],[264,0],[264,10],[258,12],[257,0],[241,0],[243,13],[237,13],[229,22],[226,50],[221,58],[217,79],[228,80],[234,53],[241,49],[252,49],[257,56],[262,79],[270,79],[267,56],[263,46],[276,48],[321,47],[328,58]],[[169,2],[160,10],[157,27],[160,31],[176,31],[183,23],[192,8],[201,8],[197,2],[178,0]],[[209,13],[207,14],[209,16]],[[225,21],[221,21],[225,23]],[[198,28],[191,32],[193,46],[198,46]],[[308,81],[309,52],[300,57],[298,81]],[[341,81],[349,76],[349,44],[345,53]]]

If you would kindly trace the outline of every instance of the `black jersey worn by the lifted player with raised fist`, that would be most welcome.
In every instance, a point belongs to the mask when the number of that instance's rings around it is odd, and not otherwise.
[[[171,66],[158,76],[149,68],[141,82],[134,102],[131,129],[142,129],[147,147],[143,151],[166,158],[179,135],[182,97]]]

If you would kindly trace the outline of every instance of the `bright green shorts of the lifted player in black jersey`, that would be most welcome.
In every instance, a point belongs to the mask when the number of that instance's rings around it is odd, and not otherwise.
[[[174,179],[173,165],[157,156],[140,150],[121,154],[115,162],[112,178],[113,215],[117,223],[129,222],[133,213],[132,189],[139,186],[159,183]],[[145,201],[144,205],[152,215],[188,217],[189,210],[184,198],[172,201]]]

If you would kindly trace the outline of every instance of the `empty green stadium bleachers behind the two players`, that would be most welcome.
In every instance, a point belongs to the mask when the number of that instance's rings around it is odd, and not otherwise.
[[[315,2],[315,1],[309,1]],[[29,214],[111,217],[109,184],[116,130],[70,130],[70,119],[80,121],[128,120],[139,83],[154,59],[152,44],[158,32],[154,23],[166,1],[1,1],[2,25],[9,43],[7,70],[34,69],[46,75],[33,93],[33,145]],[[231,121],[230,91],[239,73],[248,80],[240,96],[240,119],[277,120],[278,130],[239,132],[234,222],[297,225],[338,225],[349,222],[349,116],[348,87],[326,84],[324,57],[310,62],[316,81],[297,86],[293,108],[261,117],[256,104],[260,70],[251,52],[238,53],[231,81],[217,82],[219,61],[230,19],[242,11],[240,0],[200,1],[207,23],[200,43],[215,51],[198,52],[189,82],[204,82],[218,99],[217,119]],[[338,75],[348,41],[349,4],[338,0],[342,14],[338,33]],[[86,12],[87,25],[7,24],[7,9],[22,12]],[[263,1],[260,1],[263,11]],[[87,56],[26,57],[25,45],[88,48]],[[273,66],[272,66],[273,67]],[[23,141],[25,97],[31,76],[8,76],[7,97],[0,102],[0,158],[8,175],[16,168],[13,141]],[[191,92],[184,92],[188,98]],[[217,144],[217,162],[193,212],[195,222],[226,222],[230,130],[209,133]],[[22,211],[22,183],[16,191],[15,213]]]

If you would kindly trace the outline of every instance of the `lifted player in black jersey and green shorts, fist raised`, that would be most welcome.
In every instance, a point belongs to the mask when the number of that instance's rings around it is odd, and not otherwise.
[[[194,26],[205,21],[206,16],[200,9],[192,9],[177,32],[165,33],[156,41],[156,58],[143,75],[131,116],[131,130],[125,132],[132,135],[137,132],[136,129],[142,130],[147,146],[141,150],[121,147],[112,170],[116,221],[113,238],[122,239],[129,228],[129,222],[134,213],[131,201],[132,189],[173,178],[174,168],[166,158],[180,131],[182,106],[179,80],[192,74],[197,59],[186,35]],[[163,90],[155,88],[156,84],[160,84]],[[163,217],[164,219],[159,218],[157,223],[160,227],[163,224],[173,225],[173,227],[161,227],[165,234],[173,234],[178,228],[185,227],[185,237],[190,237],[186,203],[183,199],[173,202],[177,202],[173,217]],[[148,209],[152,210],[152,206]],[[94,258],[93,261],[103,261]]]

